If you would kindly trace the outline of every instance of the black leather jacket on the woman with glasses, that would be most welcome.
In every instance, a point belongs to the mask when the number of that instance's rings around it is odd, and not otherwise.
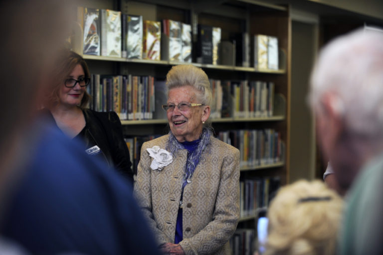
[[[118,115],[115,112],[96,112],[91,109],[82,111],[86,125],[81,136],[86,148],[97,145],[100,152],[94,156],[105,161],[110,168],[115,168],[133,184],[132,163]],[[49,115],[54,121],[50,112]]]

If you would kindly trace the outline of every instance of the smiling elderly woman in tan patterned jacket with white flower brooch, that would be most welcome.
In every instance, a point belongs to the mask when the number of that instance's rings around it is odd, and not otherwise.
[[[170,132],[143,144],[135,192],[165,254],[230,254],[239,218],[239,151],[204,123],[212,100],[193,65],[167,75]]]

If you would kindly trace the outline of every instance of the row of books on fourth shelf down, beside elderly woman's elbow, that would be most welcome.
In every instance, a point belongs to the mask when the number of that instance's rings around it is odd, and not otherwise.
[[[279,177],[245,179],[239,182],[240,217],[256,216],[258,208],[268,207],[280,187]]]

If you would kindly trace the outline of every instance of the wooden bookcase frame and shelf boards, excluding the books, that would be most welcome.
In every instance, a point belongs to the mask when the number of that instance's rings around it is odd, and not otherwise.
[[[271,128],[280,133],[285,144],[284,160],[281,162],[241,168],[241,180],[279,177],[281,185],[288,183],[289,166],[289,118],[290,118],[290,62],[291,18],[288,6],[273,5],[256,0],[80,0],[79,6],[109,8],[122,13],[142,15],[146,20],[172,19],[192,25],[192,38],[197,40],[197,24],[221,28],[221,40],[229,40],[236,33],[247,32],[276,36],[279,47],[279,69],[256,69],[254,67],[212,65],[196,63],[212,79],[268,81],[275,84],[274,114],[262,118],[212,119],[214,132],[237,129]],[[250,47],[252,48],[252,46]],[[116,57],[84,55],[91,73],[113,75],[152,75],[165,80],[172,65],[167,60],[133,60]],[[251,65],[253,66],[253,65]],[[165,103],[165,102],[164,102]],[[166,134],[167,120],[123,120],[125,135]],[[255,228],[254,215],[242,217],[238,228]]]

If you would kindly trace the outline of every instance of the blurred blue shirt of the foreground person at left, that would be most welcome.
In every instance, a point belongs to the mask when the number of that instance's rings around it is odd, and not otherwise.
[[[31,254],[159,254],[132,184],[58,128],[37,130],[17,170],[23,175],[8,197],[1,235]]]

